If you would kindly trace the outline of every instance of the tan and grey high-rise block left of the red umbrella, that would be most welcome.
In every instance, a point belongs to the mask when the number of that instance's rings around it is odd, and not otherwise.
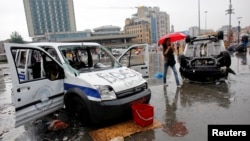
[[[143,28],[145,27],[145,28]],[[136,43],[157,43],[158,39],[170,32],[169,15],[159,7],[137,7],[133,18],[126,19],[125,33],[138,34]]]

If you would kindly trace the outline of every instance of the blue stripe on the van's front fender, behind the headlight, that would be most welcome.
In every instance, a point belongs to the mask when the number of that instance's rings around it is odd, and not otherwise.
[[[81,89],[85,94],[91,97],[95,98],[101,98],[99,92],[96,89],[84,87],[84,86],[79,86],[79,85],[73,85],[69,83],[64,83],[64,90],[69,90],[70,88],[79,88]]]

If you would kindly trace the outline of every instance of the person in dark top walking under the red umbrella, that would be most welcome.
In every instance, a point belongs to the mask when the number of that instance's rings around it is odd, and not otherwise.
[[[174,77],[175,77],[175,82],[177,87],[181,87],[179,78],[178,78],[178,73],[175,67],[176,61],[174,57],[174,45],[170,43],[170,40],[167,38],[165,39],[164,43],[162,44],[163,46],[163,56],[164,56],[164,72],[163,72],[163,83],[165,86],[168,86],[167,84],[167,71],[168,67],[171,67]]]

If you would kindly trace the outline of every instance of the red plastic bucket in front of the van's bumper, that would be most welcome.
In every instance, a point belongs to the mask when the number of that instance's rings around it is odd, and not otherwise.
[[[140,126],[147,126],[153,123],[154,107],[148,104],[133,104],[132,114],[134,123]]]

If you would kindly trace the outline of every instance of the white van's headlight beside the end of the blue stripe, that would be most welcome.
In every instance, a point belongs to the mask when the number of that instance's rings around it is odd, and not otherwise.
[[[117,98],[113,88],[110,86],[97,85],[96,88],[99,91],[102,100],[113,100]]]

